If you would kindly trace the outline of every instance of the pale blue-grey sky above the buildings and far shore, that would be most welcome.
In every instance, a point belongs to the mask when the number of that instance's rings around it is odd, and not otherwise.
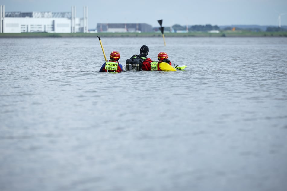
[[[83,17],[88,7],[88,28],[97,23],[147,23],[159,27],[180,25],[287,25],[287,0],[0,0],[5,12],[71,12]]]

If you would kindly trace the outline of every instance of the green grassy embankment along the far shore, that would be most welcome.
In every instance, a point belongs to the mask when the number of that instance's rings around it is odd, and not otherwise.
[[[161,37],[161,33],[0,33],[0,38],[45,38],[45,37]],[[220,33],[190,32],[164,33],[165,37],[287,37],[287,32],[222,31]]]

